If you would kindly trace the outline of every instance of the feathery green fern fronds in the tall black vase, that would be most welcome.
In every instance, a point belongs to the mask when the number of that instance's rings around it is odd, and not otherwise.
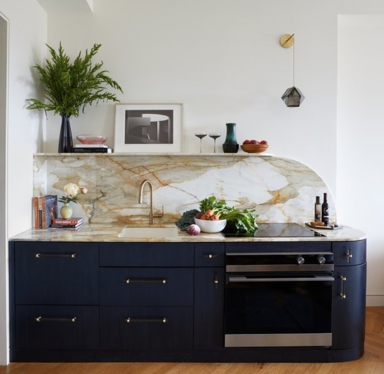
[[[107,91],[107,87],[123,90],[116,81],[110,78],[107,70],[101,70],[103,62],[93,64],[92,58],[96,55],[101,44],[94,44],[90,52],[86,50],[85,56],[81,52],[77,58],[70,62],[64,53],[60,42],[58,52],[48,44],[46,46],[51,54],[51,61],[45,60],[45,66],[34,65],[40,74],[40,80],[45,86],[45,102],[30,98],[27,109],[43,109],[45,112],[53,111],[55,114],[65,114],[78,117],[80,111],[84,113],[87,105],[99,100],[120,101],[115,94]]]

